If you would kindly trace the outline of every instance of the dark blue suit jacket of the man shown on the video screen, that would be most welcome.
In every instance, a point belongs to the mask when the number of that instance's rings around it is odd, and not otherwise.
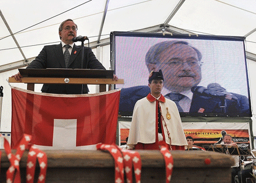
[[[134,110],[135,103],[150,93],[148,86],[136,86],[130,88],[122,88],[120,93],[119,113],[121,115],[131,115]],[[227,113],[241,114],[251,116],[249,109],[249,99],[246,96],[232,93],[237,99],[222,99],[219,97],[208,97],[193,95],[189,113]],[[225,112],[220,107],[225,102]]]

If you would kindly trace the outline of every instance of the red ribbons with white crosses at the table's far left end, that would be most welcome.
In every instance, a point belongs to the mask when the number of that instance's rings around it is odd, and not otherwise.
[[[0,134],[0,137],[2,134]],[[45,182],[46,171],[47,171],[47,155],[45,152],[40,149],[31,146],[29,142],[31,141],[31,135],[24,134],[19,145],[17,146],[16,154],[12,154],[10,149],[10,144],[6,138],[4,138],[4,149],[6,150],[7,157],[10,161],[10,167],[6,172],[6,182],[20,183],[20,159],[23,155],[23,152],[26,149],[30,149],[28,153],[28,162],[27,162],[27,174],[26,182],[34,182],[34,174],[36,170],[36,159],[39,161],[40,165],[40,175],[37,182]],[[1,153],[0,153],[1,159]],[[13,181],[14,179],[14,181]]]

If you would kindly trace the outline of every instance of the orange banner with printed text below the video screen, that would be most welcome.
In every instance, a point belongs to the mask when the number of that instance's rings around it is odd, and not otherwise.
[[[129,136],[130,121],[119,121],[120,144],[126,143]],[[194,138],[194,144],[208,147],[222,142],[222,136],[230,134],[233,142],[241,148],[250,148],[250,126],[249,123],[183,123],[184,134]]]

